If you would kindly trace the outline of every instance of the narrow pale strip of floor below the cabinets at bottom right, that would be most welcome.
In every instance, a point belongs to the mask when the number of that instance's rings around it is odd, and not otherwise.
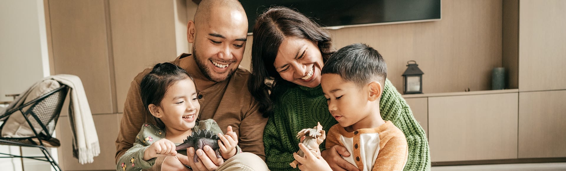
[[[522,163],[522,164],[491,164],[491,165],[464,165],[464,166],[433,166],[432,171],[457,170],[566,170],[566,163]]]

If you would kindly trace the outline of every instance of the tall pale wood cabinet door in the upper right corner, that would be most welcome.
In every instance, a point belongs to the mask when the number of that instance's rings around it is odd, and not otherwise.
[[[566,1],[521,0],[519,91],[566,89]]]

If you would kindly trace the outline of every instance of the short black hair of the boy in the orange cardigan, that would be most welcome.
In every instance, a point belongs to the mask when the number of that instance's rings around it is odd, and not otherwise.
[[[358,86],[374,81],[384,85],[387,65],[374,48],[366,44],[351,44],[334,53],[320,72],[338,74],[345,82],[353,82]]]

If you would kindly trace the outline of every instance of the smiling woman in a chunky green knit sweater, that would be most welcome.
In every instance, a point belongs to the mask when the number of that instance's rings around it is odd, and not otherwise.
[[[265,160],[271,170],[290,170],[293,152],[299,149],[297,132],[317,122],[328,132],[340,119],[329,113],[320,87],[320,71],[335,49],[328,31],[286,7],[272,7],[258,16],[253,42],[248,89],[258,100],[260,112],[269,116],[263,135]],[[381,117],[405,133],[409,146],[405,170],[430,169],[424,130],[389,80],[385,80],[380,108]],[[340,156],[349,156],[345,147],[325,149],[322,143],[321,151],[333,169],[357,169]]]

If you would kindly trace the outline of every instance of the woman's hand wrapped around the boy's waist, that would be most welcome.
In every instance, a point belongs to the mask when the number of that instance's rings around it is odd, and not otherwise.
[[[350,153],[346,147],[335,145],[332,148],[322,151],[320,155],[328,162],[332,170],[358,170],[359,169],[344,160],[342,156],[348,157]]]

